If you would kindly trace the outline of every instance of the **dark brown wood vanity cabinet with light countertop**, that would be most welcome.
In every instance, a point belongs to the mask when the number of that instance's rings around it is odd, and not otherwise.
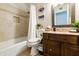
[[[79,56],[79,33],[44,32],[43,55]]]

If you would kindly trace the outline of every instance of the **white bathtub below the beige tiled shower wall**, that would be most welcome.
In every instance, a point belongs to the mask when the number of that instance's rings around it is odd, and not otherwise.
[[[0,56],[16,56],[27,48],[27,41],[16,44],[13,42],[14,40],[8,40],[0,43]]]

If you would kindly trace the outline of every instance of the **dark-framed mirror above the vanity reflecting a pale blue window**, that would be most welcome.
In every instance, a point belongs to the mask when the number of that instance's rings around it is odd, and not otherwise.
[[[68,27],[75,21],[74,3],[58,4],[52,11],[52,25],[54,27]]]

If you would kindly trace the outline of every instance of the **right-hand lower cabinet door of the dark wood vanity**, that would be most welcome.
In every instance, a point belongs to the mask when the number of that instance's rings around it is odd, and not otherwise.
[[[72,44],[62,44],[62,55],[64,56],[79,56],[79,47]]]

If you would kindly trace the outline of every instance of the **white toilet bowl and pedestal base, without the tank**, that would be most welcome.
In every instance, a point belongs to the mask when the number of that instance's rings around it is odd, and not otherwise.
[[[37,47],[40,42],[41,42],[40,38],[32,38],[28,40],[28,47],[31,47],[31,54],[30,54],[31,56],[38,54]]]

